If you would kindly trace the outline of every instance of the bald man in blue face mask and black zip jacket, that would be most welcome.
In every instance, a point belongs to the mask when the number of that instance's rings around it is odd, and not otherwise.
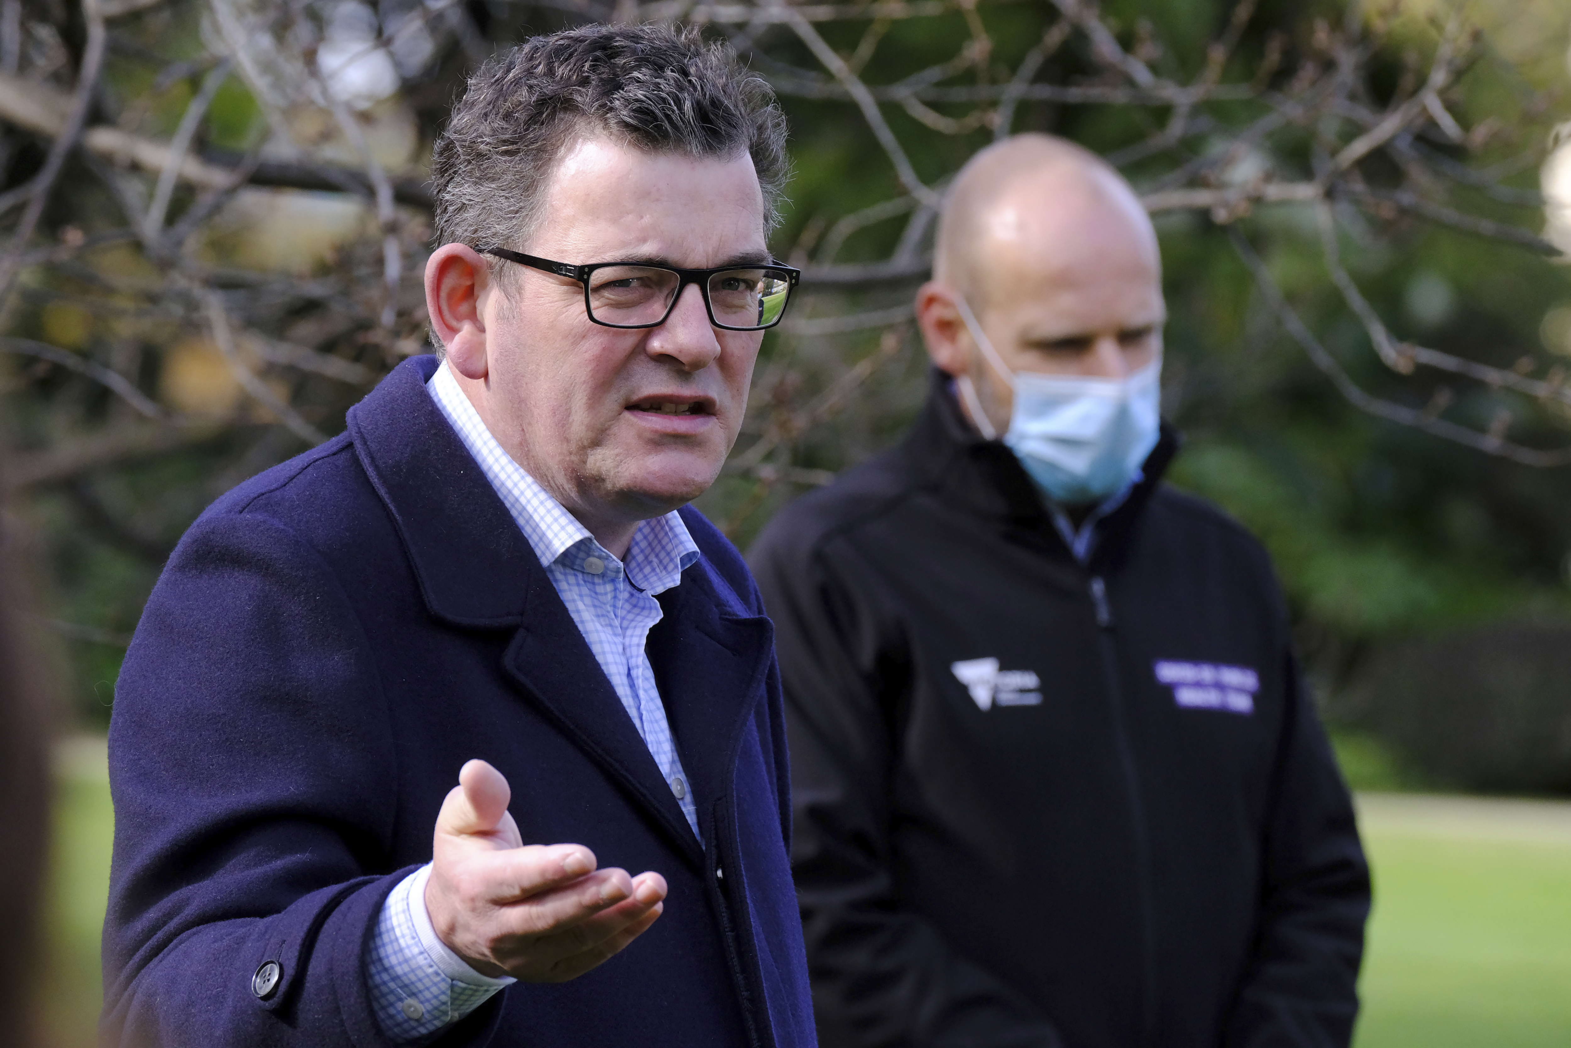
[[[820,1043],[1346,1045],[1368,870],[1266,553],[1161,484],[1139,200],[994,145],[916,311],[911,432],[749,558]]]

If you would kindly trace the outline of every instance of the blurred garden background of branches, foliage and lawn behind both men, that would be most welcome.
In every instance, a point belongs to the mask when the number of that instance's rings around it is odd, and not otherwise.
[[[743,547],[914,415],[966,157],[1051,130],[1128,174],[1172,481],[1271,548],[1359,790],[1359,1046],[1571,1042],[1565,0],[0,0],[0,501],[58,698],[46,1043],[93,1043],[104,732],[165,558],[426,352],[430,141],[476,63],[589,20],[702,25],[792,121],[803,292],[701,500]]]

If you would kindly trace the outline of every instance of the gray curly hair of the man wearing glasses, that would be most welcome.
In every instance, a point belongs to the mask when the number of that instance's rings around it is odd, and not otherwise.
[[[786,115],[770,85],[696,28],[584,25],[536,36],[470,77],[430,160],[437,245],[526,239],[558,159],[586,134],[694,159],[746,152],[765,231],[779,222]]]

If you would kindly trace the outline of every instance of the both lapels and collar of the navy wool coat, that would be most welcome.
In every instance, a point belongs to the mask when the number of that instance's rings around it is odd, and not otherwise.
[[[693,863],[702,848],[539,558],[426,390],[435,357],[401,363],[358,405],[349,432],[404,539],[434,616],[465,628],[515,628],[506,672],[616,778]],[[660,594],[655,669],[682,767],[701,811],[731,792],[737,746],[762,693],[773,633],[723,616],[709,566]],[[702,823],[701,823],[702,825]]]

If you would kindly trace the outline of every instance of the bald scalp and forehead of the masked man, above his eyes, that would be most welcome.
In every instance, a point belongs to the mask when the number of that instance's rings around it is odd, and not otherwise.
[[[1051,277],[1114,253],[1161,273],[1156,233],[1130,184],[1095,152],[1053,135],[1015,135],[971,157],[944,198],[935,248],[933,277],[977,311],[990,305],[1001,267]]]

